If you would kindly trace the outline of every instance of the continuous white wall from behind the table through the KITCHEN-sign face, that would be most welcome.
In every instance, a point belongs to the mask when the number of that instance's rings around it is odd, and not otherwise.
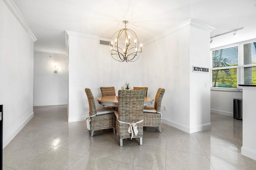
[[[96,100],[101,96],[100,86],[114,86],[117,93],[127,81],[133,86],[147,86],[152,98],[158,88],[166,89],[163,122],[188,133],[209,129],[210,87],[204,84],[210,84],[210,74],[192,72],[192,65],[209,68],[209,38],[209,31],[192,27],[187,21],[144,44],[138,61],[119,63],[110,57],[108,46],[99,45],[99,37],[67,31],[69,121],[88,116],[85,87],[91,88]]]

